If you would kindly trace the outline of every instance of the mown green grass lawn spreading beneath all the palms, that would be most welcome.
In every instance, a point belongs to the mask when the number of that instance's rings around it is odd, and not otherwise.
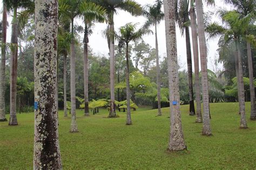
[[[79,132],[70,133],[70,115],[59,111],[60,152],[64,169],[255,169],[256,122],[239,129],[238,103],[211,104],[213,136],[201,135],[202,124],[188,116],[181,106],[187,151],[167,153],[169,108],[163,116],[150,108],[132,112],[133,125],[125,125],[126,115],[104,118],[107,110],[84,117],[77,110]],[[32,169],[34,115],[17,115],[18,126],[0,123],[0,169]]]

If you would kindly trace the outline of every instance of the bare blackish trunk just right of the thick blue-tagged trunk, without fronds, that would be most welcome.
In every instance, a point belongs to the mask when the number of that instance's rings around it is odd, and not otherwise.
[[[186,1],[186,0],[185,0]],[[187,16],[187,22],[188,22]],[[188,94],[190,95],[190,115],[195,115],[194,111],[194,97],[193,97],[193,76],[192,76],[192,56],[191,56],[191,44],[190,44],[190,29],[185,27],[186,34],[186,53],[187,53],[187,74],[188,74]]]

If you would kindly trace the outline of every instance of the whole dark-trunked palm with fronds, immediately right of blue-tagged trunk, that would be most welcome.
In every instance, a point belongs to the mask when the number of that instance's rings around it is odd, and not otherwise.
[[[184,34],[185,29],[185,37],[186,37],[186,53],[187,53],[187,73],[188,73],[188,89],[190,95],[190,115],[195,115],[194,110],[194,97],[193,97],[193,76],[192,76],[192,56],[191,56],[191,44],[190,44],[190,30],[189,30],[189,22],[188,18],[188,4],[189,1],[183,0],[179,2],[179,11],[176,17],[178,25],[181,29],[181,34]]]

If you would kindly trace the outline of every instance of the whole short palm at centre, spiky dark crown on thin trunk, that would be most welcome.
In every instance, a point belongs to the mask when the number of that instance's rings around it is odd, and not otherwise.
[[[122,48],[125,46],[126,48],[126,101],[127,101],[127,117],[126,117],[126,125],[132,124],[131,119],[131,107],[130,107],[130,79],[129,79],[129,42],[137,41],[142,39],[145,34],[149,34],[152,31],[147,30],[145,28],[141,28],[136,30],[137,24],[128,23],[119,28],[119,34],[116,35],[118,39],[118,47]]]

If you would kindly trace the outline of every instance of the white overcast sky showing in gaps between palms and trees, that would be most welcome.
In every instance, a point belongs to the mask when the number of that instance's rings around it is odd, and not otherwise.
[[[142,5],[146,4],[153,4],[155,0],[136,0],[138,3]],[[204,6],[204,11],[214,11],[214,9],[218,9],[220,7],[226,6],[223,1],[216,0],[215,6]],[[1,3],[1,9],[2,9],[2,3]],[[215,20],[218,20],[217,17],[213,17]],[[2,15],[1,15],[2,19]],[[132,17],[128,12],[125,11],[118,11],[117,15],[114,15],[114,27],[117,30],[120,26],[125,25],[126,23],[139,23],[140,25],[143,25],[143,23],[146,21],[144,17]],[[8,17],[8,22],[11,23],[11,17]],[[83,25],[82,21],[76,20],[76,23],[79,25]],[[10,25],[10,24],[9,24]],[[105,30],[106,23],[104,24],[95,24],[95,28],[93,31],[93,34],[90,36],[90,47],[93,49],[93,52],[96,54],[102,54],[105,56],[108,56],[109,48],[107,47],[106,39],[102,36],[102,31]],[[152,28],[152,31],[154,29]],[[179,29],[176,27],[177,32],[177,50],[178,50],[178,58],[179,63],[181,66],[181,69],[186,69],[186,44],[185,44],[185,38],[181,37]],[[8,37],[7,41],[10,42],[10,36],[11,35],[11,29],[10,26],[8,28]],[[83,35],[81,35],[81,38],[83,38]],[[192,38],[191,38],[192,39]],[[148,44],[150,44],[152,47],[155,46],[155,39],[154,35],[145,36],[144,41]],[[164,21],[162,21],[158,26],[158,44],[159,44],[159,56],[160,61],[163,60],[163,57],[166,55],[166,45],[165,45],[165,26]],[[192,45],[192,42],[191,42]],[[214,58],[218,57],[217,48],[218,48],[218,39],[208,40],[207,41],[207,47],[208,47],[208,68],[209,69],[215,69],[213,65]],[[191,48],[192,50],[192,48]],[[193,52],[192,52],[193,55]],[[193,61],[193,59],[192,59]],[[222,66],[218,65],[218,69],[221,69]]]

